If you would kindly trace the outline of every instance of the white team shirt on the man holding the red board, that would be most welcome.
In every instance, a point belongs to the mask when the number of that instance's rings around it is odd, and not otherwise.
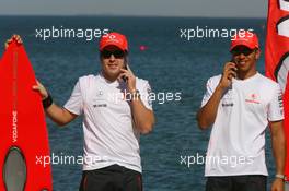
[[[136,87],[143,105],[152,110],[148,81],[137,79]],[[83,170],[117,164],[141,172],[139,132],[134,128],[125,89],[124,82],[108,82],[102,74],[82,76],[66,103],[70,112],[83,114]]]

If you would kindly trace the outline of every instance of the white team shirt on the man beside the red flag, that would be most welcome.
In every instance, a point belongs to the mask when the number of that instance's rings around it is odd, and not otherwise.
[[[221,75],[207,82],[201,107],[210,99]],[[256,73],[233,79],[220,100],[207,151],[205,176],[265,175],[265,130],[268,121],[284,119],[279,85]]]

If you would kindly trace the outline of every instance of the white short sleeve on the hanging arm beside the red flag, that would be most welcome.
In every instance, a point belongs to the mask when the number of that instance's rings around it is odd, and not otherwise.
[[[268,120],[279,121],[284,119],[282,91],[279,85],[275,86],[273,98],[268,106]]]

